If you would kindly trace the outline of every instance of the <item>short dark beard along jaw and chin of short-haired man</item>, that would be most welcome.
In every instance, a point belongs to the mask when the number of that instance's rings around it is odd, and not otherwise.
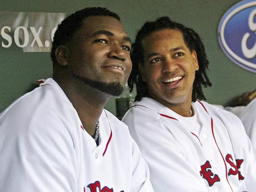
[[[76,76],[73,77],[92,88],[98,89],[101,92],[107,93],[112,96],[119,96],[122,94],[124,87],[119,82],[105,83],[101,81],[91,80],[86,77]]]

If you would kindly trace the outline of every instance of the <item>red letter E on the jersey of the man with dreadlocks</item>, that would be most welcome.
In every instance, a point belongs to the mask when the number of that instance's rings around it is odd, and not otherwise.
[[[207,180],[209,186],[211,187],[215,182],[220,181],[220,178],[217,174],[213,174],[210,168],[212,168],[212,166],[209,161],[206,161],[205,164],[201,166],[202,176],[205,180]]]

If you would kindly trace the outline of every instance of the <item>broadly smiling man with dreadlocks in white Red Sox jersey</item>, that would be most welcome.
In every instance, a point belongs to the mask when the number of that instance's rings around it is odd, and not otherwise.
[[[243,124],[205,101],[209,61],[198,34],[162,17],[132,46],[133,107],[123,118],[161,191],[254,191],[256,162]]]

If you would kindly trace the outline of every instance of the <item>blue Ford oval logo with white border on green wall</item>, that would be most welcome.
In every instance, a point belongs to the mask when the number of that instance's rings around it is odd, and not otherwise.
[[[256,73],[256,1],[245,0],[221,18],[219,43],[236,64]]]

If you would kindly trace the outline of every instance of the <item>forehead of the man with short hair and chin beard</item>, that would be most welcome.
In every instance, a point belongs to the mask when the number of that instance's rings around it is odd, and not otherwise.
[[[86,17],[82,27],[77,32],[90,36],[98,30],[110,31],[116,36],[127,36],[122,23],[110,16]]]

